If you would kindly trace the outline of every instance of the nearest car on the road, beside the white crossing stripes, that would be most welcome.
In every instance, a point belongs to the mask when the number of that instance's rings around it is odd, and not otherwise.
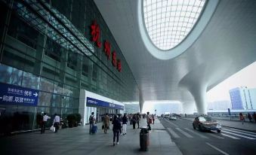
[[[193,129],[198,128],[200,131],[203,130],[217,130],[217,132],[221,132],[221,124],[216,120],[211,120],[211,117],[207,116],[199,116],[195,117],[193,120]]]

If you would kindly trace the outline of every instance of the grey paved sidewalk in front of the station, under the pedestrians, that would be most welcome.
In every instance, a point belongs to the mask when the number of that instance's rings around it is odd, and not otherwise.
[[[140,129],[132,129],[132,125],[128,125],[127,135],[120,135],[119,144],[113,147],[112,130],[104,134],[101,125],[97,124],[98,131],[94,135],[89,135],[88,126],[79,126],[60,129],[57,134],[47,130],[45,134],[33,132],[3,137],[0,138],[1,154],[182,154],[159,120],[152,125],[150,147],[146,152],[139,150]],[[145,125],[146,120],[141,119],[140,126]]]

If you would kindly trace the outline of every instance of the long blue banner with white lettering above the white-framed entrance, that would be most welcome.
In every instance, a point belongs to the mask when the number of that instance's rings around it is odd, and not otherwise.
[[[116,105],[110,102],[104,102],[98,99],[93,99],[90,97],[87,97],[86,105],[91,105],[91,106],[100,106],[100,107],[108,107],[108,108],[116,108],[116,109],[121,109],[124,110],[123,105]]]

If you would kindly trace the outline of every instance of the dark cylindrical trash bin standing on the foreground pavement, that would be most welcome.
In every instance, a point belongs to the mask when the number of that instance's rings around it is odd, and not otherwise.
[[[150,145],[150,133],[147,126],[140,128],[140,150],[147,151]]]

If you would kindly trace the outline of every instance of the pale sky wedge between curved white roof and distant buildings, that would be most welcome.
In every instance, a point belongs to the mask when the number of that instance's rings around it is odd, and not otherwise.
[[[235,87],[245,86],[248,88],[256,88],[256,62],[238,71],[225,81],[218,84],[207,93],[207,102],[220,100],[229,100],[229,90]]]

